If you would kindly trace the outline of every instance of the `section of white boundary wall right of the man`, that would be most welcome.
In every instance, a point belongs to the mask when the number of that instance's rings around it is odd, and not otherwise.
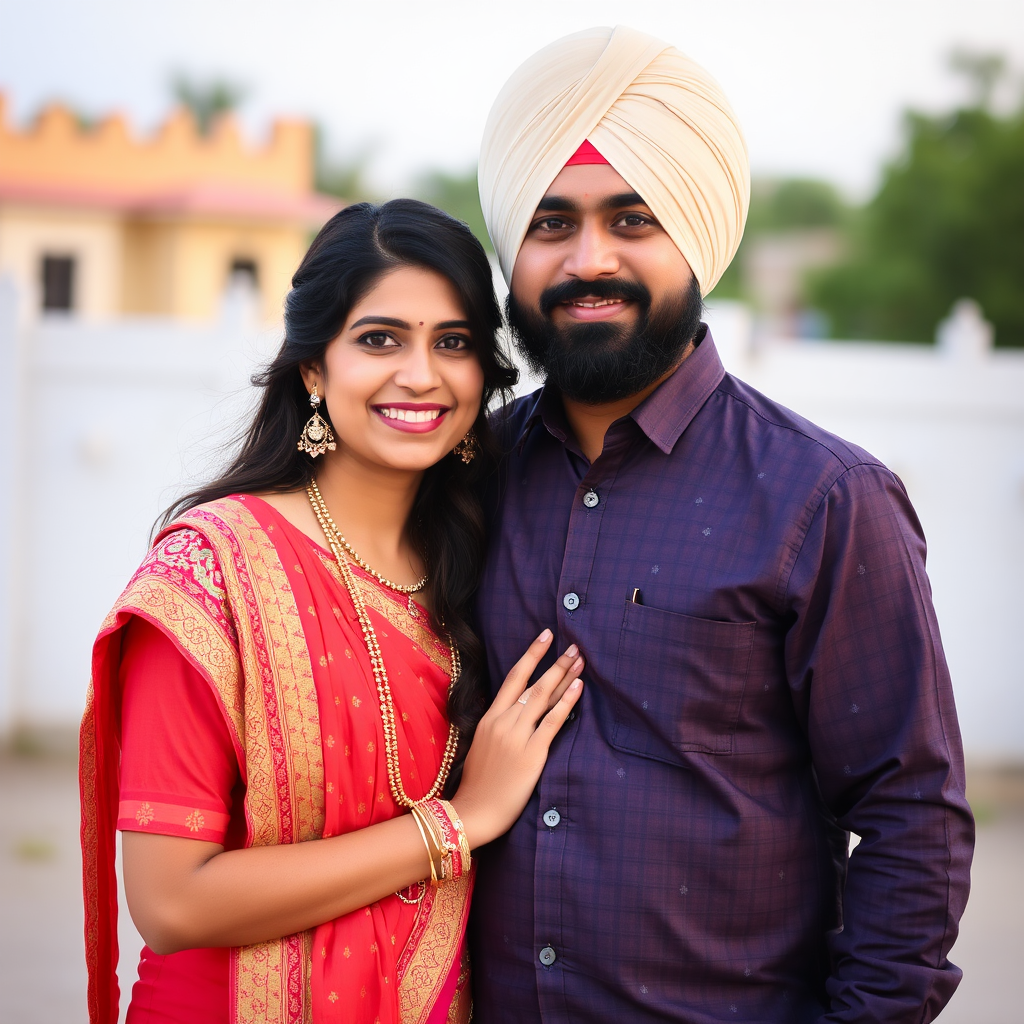
[[[726,370],[902,479],[968,756],[1024,761],[1024,352],[970,331],[944,350],[755,339],[748,310],[729,303],[708,321]]]

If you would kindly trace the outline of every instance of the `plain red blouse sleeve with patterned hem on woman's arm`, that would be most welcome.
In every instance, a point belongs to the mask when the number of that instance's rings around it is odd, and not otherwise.
[[[209,684],[137,617],[125,628],[120,682],[118,828],[223,844],[240,773]]]

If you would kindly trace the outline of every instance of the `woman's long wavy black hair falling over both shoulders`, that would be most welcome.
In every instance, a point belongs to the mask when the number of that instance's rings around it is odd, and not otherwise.
[[[434,270],[452,283],[483,370],[483,400],[473,425],[480,451],[469,465],[449,454],[426,471],[409,523],[411,540],[432,581],[435,626],[443,625],[452,634],[462,658],[462,676],[449,698],[449,716],[459,727],[464,754],[481,708],[484,671],[483,648],[470,625],[470,602],[483,557],[478,488],[498,458],[486,410],[496,394],[508,397],[517,377],[498,345],[501,312],[490,264],[465,224],[411,199],[380,206],[357,203],[332,217],[292,279],[281,351],[252,378],[263,393],[252,423],[240,437],[237,455],[217,479],[167,509],[161,524],[195,505],[227,495],[308,486],[315,467],[296,447],[309,417],[309,395],[300,367],[323,360],[351,308],[384,274],[401,266]],[[319,412],[330,421],[326,403]],[[461,760],[452,772],[450,792],[461,774]]]

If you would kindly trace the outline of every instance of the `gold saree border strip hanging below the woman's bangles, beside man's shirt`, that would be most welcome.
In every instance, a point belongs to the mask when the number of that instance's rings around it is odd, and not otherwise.
[[[398,1010],[401,1024],[426,1024],[462,947],[476,866],[469,874],[430,888],[413,934],[398,959]],[[461,980],[461,978],[460,978]],[[458,987],[460,1004],[466,993]]]

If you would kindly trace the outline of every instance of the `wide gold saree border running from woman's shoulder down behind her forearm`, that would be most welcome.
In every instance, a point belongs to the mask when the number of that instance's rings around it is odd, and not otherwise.
[[[210,542],[239,634],[244,681],[249,844],[318,838],[324,756],[312,666],[298,607],[276,548],[244,501],[221,499],[176,524]],[[309,937],[231,951],[232,1024],[311,1020]]]

